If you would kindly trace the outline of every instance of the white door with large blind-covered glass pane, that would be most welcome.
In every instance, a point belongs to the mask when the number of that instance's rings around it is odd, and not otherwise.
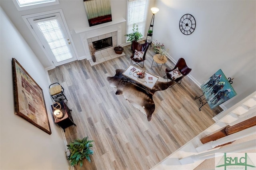
[[[42,49],[55,66],[76,60],[68,30],[60,12],[24,16],[36,34]]]

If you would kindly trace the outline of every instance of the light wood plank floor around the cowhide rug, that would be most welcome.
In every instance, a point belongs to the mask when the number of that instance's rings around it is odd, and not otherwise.
[[[66,104],[77,125],[66,128],[67,141],[84,136],[95,141],[91,163],[85,160],[77,170],[148,170],[212,125],[212,117],[222,111],[208,105],[198,111],[195,96],[202,91],[184,77],[181,84],[154,94],[156,109],[148,122],[122,95],[115,95],[116,89],[106,80],[116,69],[130,65],[130,45],[124,47],[124,53],[95,66],[84,59],[48,71],[51,83],[64,87]],[[161,71],[151,68],[154,54],[152,49],[147,51],[143,69],[163,77],[165,68],[173,68],[174,63],[168,60]]]

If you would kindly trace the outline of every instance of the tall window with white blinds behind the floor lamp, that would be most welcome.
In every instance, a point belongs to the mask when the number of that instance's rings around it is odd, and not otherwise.
[[[128,0],[126,34],[132,33],[133,24],[137,24],[138,31],[144,36],[148,16],[148,4],[149,0]]]

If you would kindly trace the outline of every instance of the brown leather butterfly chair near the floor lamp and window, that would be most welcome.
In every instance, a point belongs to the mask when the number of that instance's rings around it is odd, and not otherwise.
[[[146,52],[148,50],[149,43],[138,43],[136,41],[132,42],[132,56],[130,57],[135,64],[138,64],[140,67],[144,67],[144,61],[146,60]],[[132,64],[131,61],[131,64]],[[143,62],[141,66],[139,63]]]

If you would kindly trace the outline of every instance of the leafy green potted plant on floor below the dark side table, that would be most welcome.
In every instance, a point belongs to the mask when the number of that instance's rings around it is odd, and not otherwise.
[[[80,166],[83,165],[83,160],[87,159],[91,162],[90,154],[93,154],[93,150],[91,147],[94,140],[88,140],[88,136],[83,139],[75,139],[74,142],[70,142],[68,146],[68,150],[70,151],[70,155],[68,156],[68,160],[70,160],[70,165],[75,166],[80,163]]]

